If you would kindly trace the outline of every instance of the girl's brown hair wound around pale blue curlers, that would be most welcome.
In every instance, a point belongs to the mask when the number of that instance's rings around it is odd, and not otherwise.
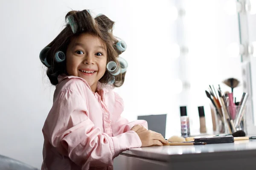
[[[64,62],[56,62],[55,53],[57,51],[63,51],[66,54],[67,46],[70,44],[71,39],[84,32],[99,37],[105,43],[107,48],[107,63],[114,61],[116,62],[117,67],[120,68],[118,57],[119,54],[122,54],[122,51],[119,51],[116,47],[116,43],[119,40],[113,36],[114,22],[103,14],[93,18],[87,10],[68,12],[65,17],[66,21],[70,15],[72,15],[74,22],[77,24],[76,33],[73,33],[70,23],[67,23],[61,33],[58,34],[58,36],[50,42],[49,45],[47,45],[47,47],[50,47],[49,51],[46,53],[46,59],[50,65],[47,69],[47,76],[49,77],[52,85],[58,84],[57,77],[59,75],[68,75],[66,60]],[[111,77],[113,77],[113,75],[111,75],[106,69],[105,74],[101,79],[99,79],[99,82],[108,83]],[[125,81],[125,73],[120,73],[114,77],[115,82],[113,83],[113,86],[115,87],[120,87]]]

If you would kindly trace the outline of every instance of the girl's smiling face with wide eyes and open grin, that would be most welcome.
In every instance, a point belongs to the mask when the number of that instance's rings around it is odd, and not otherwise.
[[[107,51],[101,39],[88,33],[73,38],[67,47],[67,73],[83,78],[96,91],[107,65]]]

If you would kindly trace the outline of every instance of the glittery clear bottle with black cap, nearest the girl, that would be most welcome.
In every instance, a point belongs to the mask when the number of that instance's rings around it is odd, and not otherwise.
[[[180,106],[180,127],[182,137],[190,136],[189,116],[186,113],[186,106]]]

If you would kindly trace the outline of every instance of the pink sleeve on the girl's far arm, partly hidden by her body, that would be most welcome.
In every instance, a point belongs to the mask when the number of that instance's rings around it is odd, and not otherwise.
[[[115,93],[115,106],[113,115],[117,117],[113,118],[113,121],[111,122],[113,136],[128,132],[129,130],[131,130],[132,127],[134,127],[134,125],[143,125],[145,128],[148,129],[148,123],[145,120],[135,120],[133,122],[129,122],[127,119],[122,117],[121,113],[123,110],[123,99],[117,93]]]

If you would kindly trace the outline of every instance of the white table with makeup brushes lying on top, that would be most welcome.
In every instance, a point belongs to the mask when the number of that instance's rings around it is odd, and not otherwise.
[[[256,170],[256,140],[226,144],[131,148],[114,170]]]

